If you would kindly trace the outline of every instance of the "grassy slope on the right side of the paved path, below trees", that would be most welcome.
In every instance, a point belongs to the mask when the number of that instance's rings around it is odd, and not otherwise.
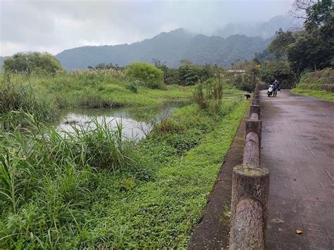
[[[327,68],[305,73],[292,93],[334,101],[334,70]]]

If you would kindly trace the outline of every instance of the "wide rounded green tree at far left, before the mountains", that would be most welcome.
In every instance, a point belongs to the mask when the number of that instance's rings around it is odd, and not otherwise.
[[[58,59],[49,53],[19,52],[4,61],[4,70],[12,73],[27,73],[43,70],[43,73],[56,73],[63,70]]]

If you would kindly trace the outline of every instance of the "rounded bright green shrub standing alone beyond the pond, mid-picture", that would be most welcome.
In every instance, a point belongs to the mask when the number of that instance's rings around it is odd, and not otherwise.
[[[163,83],[163,72],[149,63],[135,62],[128,65],[125,75],[144,82],[151,89],[158,89]]]

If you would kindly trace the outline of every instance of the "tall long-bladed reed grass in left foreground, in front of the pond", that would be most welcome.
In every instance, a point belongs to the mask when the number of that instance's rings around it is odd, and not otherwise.
[[[123,138],[120,124],[111,131],[95,120],[90,128],[64,132],[23,115],[24,132],[0,130],[0,248],[56,249],[64,235],[80,245],[86,197],[98,173],[132,180],[146,175],[135,144]]]

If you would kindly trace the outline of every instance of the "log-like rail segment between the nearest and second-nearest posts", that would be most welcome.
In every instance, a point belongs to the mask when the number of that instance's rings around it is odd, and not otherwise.
[[[259,136],[256,134],[256,132],[249,132],[246,135],[242,163],[255,165],[256,167],[260,165]]]

